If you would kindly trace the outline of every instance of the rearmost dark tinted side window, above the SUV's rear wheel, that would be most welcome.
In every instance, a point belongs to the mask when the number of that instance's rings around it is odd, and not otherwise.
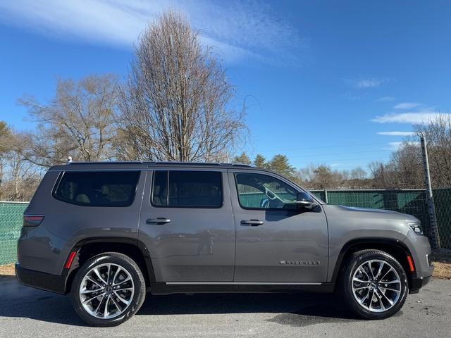
[[[139,177],[139,171],[66,172],[54,196],[80,206],[130,206]]]

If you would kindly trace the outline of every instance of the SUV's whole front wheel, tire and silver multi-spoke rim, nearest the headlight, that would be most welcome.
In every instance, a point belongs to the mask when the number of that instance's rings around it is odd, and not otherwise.
[[[341,294],[361,318],[388,318],[402,308],[407,297],[404,268],[384,251],[353,253],[341,277]]]

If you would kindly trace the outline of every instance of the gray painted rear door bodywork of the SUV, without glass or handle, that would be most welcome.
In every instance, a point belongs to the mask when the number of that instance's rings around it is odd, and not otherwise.
[[[171,170],[171,167],[161,170]],[[159,168],[160,170],[160,168]],[[177,168],[176,170],[202,170]],[[212,171],[212,170],[209,170]],[[152,258],[156,282],[230,282],[235,262],[235,232],[225,169],[220,208],[156,207],[151,204],[152,171],[144,189],[139,239]],[[168,218],[170,223],[148,224]]]

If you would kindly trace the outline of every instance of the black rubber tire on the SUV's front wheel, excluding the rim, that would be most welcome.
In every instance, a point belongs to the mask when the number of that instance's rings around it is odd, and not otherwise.
[[[386,311],[384,311],[384,308],[382,308],[381,305],[378,306],[378,309],[381,312],[369,311],[369,309],[365,308],[365,304],[361,305],[357,301],[356,297],[354,297],[354,292],[352,291],[353,277],[354,277],[354,273],[356,272],[357,268],[359,268],[359,266],[362,265],[363,263],[365,263],[367,261],[371,261],[371,260],[383,261],[385,263],[390,264],[391,267],[393,269],[395,269],[395,271],[400,279],[400,283],[399,283],[400,294],[399,294],[397,300],[394,302],[393,306],[391,308],[388,308],[388,310],[386,310]],[[385,263],[383,265],[385,266],[385,269],[386,269],[386,267],[388,265],[385,265]],[[382,273],[381,273],[381,275],[382,275]],[[371,277],[370,277],[370,279],[371,279]],[[378,319],[388,318],[391,315],[394,315],[395,313],[397,313],[397,311],[400,311],[400,308],[402,308],[402,306],[404,305],[404,302],[406,301],[407,293],[409,291],[407,275],[404,271],[404,268],[402,268],[402,265],[393,256],[390,256],[388,253],[386,253],[384,251],[380,251],[380,250],[374,250],[374,249],[362,250],[362,251],[357,251],[355,253],[352,253],[350,258],[347,260],[345,267],[342,270],[339,282],[340,282],[340,294],[345,299],[345,302],[347,303],[349,308],[356,315],[358,315],[359,318],[370,319],[370,320],[378,320]],[[377,280],[376,280],[376,282],[377,282]],[[379,282],[381,282],[381,281],[379,280]],[[366,286],[367,284],[366,285],[365,284],[366,283],[360,283],[357,285]],[[382,284],[382,286],[384,285],[383,282],[381,282],[381,284]],[[385,286],[387,286],[387,285],[388,284],[385,284]],[[374,296],[372,294],[372,297],[376,297],[376,299],[377,299],[378,298],[377,293],[380,292],[380,290],[383,290],[383,289],[378,289],[378,291],[376,291],[376,296]],[[366,289],[362,290],[362,294],[364,294],[364,292],[366,292]],[[368,293],[370,294],[370,291],[368,291]],[[379,294],[381,295],[381,293],[379,293]],[[387,294],[387,293],[385,292],[385,294]],[[359,295],[357,294],[357,296],[359,296]],[[383,295],[381,295],[381,298],[383,298]],[[371,301],[371,305],[372,305],[373,304],[372,298],[366,299],[366,304],[369,301]],[[377,305],[377,303],[378,302],[376,301],[376,305]],[[385,303],[385,306],[387,306],[387,307],[390,306],[390,303],[387,303],[387,301],[384,301],[384,303]]]

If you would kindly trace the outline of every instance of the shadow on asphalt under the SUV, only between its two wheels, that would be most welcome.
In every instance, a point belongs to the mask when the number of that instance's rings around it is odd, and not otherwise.
[[[335,294],[170,294],[147,295],[137,315],[276,313],[268,321],[307,326],[359,320]]]

